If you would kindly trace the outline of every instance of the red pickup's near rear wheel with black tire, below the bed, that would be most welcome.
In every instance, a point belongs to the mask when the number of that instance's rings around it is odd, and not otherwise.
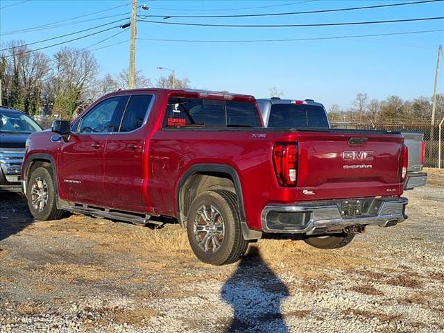
[[[214,219],[205,221],[203,210],[207,214],[214,210]],[[200,261],[216,266],[237,262],[246,253],[248,241],[242,235],[236,195],[221,189],[200,194],[188,210],[187,234],[191,249]]]

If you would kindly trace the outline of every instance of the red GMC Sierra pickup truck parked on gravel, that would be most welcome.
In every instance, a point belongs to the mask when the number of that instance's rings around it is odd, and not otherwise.
[[[29,209],[37,220],[174,217],[196,256],[216,265],[237,261],[263,233],[339,248],[368,225],[407,218],[402,135],[263,125],[253,96],[108,94],[28,138]]]

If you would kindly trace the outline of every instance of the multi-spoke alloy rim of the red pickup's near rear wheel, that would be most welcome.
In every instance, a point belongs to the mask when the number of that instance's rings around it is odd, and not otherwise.
[[[214,253],[221,248],[225,223],[221,212],[213,205],[203,205],[198,209],[194,219],[194,237],[206,253]]]

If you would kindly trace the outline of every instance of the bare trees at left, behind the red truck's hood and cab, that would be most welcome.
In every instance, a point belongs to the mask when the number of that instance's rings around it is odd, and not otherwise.
[[[94,53],[62,47],[53,56],[31,51],[22,40],[2,45],[0,80],[2,105],[37,115],[72,117],[104,94],[128,88],[128,70],[99,77]],[[188,78],[176,78],[175,87],[190,87]],[[173,86],[173,75],[157,78],[157,87]],[[137,71],[135,87],[152,87],[151,80]]]

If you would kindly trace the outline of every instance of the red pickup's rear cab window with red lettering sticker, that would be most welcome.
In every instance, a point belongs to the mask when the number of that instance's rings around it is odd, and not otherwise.
[[[171,97],[164,127],[261,127],[259,117],[255,103]]]

